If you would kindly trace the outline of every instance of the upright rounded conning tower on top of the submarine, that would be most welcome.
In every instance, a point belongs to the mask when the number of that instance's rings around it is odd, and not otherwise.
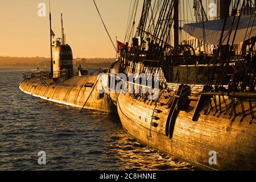
[[[58,38],[53,49],[53,78],[61,77],[61,71],[66,71],[68,78],[74,75],[72,49],[68,44],[61,44]]]

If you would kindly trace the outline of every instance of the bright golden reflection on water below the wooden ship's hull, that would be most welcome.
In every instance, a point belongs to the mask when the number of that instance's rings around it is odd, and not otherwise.
[[[170,158],[165,154],[153,151],[127,136],[123,131],[110,134],[110,150],[115,152],[116,159],[121,161],[123,170],[191,170],[187,163]]]

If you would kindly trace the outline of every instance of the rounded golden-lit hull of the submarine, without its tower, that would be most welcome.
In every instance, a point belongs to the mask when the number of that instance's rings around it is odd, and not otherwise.
[[[97,75],[77,76],[63,81],[59,78],[42,82],[38,78],[27,78],[20,82],[22,92],[43,100],[73,107],[112,113],[113,103],[107,94],[99,92]]]

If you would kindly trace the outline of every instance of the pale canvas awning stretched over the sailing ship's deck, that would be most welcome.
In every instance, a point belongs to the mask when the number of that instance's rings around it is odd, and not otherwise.
[[[235,30],[237,27],[237,22],[238,22],[238,17],[236,17],[235,23],[232,27],[233,18],[234,16],[230,16],[226,21],[224,36],[222,38],[222,44],[226,44],[228,42],[228,36],[231,28],[232,28],[232,34],[230,36],[229,44],[232,44]],[[214,45],[219,44],[224,22],[225,22],[225,19],[210,20],[210,21],[204,22],[205,37],[206,37],[205,42],[214,44]],[[189,35],[199,40],[204,40],[203,23],[201,22],[184,24],[183,30],[187,32]],[[255,34],[256,34],[256,15],[241,16],[234,43],[235,44],[241,43],[243,42],[243,40],[247,40],[253,37]]]

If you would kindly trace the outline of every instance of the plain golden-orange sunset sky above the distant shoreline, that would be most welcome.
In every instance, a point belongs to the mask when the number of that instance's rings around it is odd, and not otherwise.
[[[39,3],[46,3],[46,17],[38,16]],[[115,36],[123,41],[130,0],[96,0],[96,3],[113,41]],[[63,13],[67,43],[74,57],[115,57],[93,0],[51,0],[51,11],[55,39],[61,37],[60,13]],[[140,8],[138,12],[139,16]],[[49,57],[48,0],[1,0],[0,23],[0,56]]]

